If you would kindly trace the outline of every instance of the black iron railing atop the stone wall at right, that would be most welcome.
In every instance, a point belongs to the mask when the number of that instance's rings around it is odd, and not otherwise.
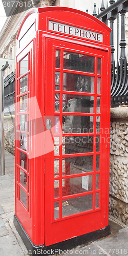
[[[93,15],[101,19],[106,25],[110,20],[111,31],[111,106],[119,106],[122,104],[128,104],[128,70],[126,60],[126,40],[125,40],[125,13],[128,11],[128,1],[118,0],[116,3],[114,0],[110,0],[110,6],[105,9],[103,0],[101,2],[100,13],[96,15],[96,5],[94,4]],[[119,42],[119,15],[121,18],[121,38]],[[114,38],[114,22],[117,19],[117,38]],[[116,46],[116,61],[114,58],[114,39]],[[120,49],[119,49],[120,48]],[[120,50],[120,56],[119,56]],[[115,65],[116,63],[116,65]]]

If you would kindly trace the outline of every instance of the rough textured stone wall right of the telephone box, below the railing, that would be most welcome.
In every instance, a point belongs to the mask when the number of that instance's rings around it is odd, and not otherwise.
[[[128,108],[111,109],[110,214],[128,224]]]

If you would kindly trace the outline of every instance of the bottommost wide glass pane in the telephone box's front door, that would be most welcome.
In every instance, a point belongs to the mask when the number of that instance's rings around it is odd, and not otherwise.
[[[92,210],[93,195],[62,200],[62,217],[78,214],[79,212]]]

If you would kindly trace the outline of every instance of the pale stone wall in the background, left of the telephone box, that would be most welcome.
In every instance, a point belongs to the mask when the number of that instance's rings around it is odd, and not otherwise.
[[[4,116],[5,150],[15,154],[15,116]]]

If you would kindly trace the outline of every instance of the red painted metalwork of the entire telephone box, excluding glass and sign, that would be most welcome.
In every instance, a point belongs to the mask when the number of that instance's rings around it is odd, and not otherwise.
[[[35,245],[45,244],[51,245],[63,240],[70,239],[72,237],[80,236],[81,234],[88,233],[94,230],[98,230],[108,225],[108,204],[109,204],[109,127],[110,127],[110,74],[111,74],[111,55],[110,55],[110,29],[96,19],[93,16],[90,16],[88,13],[83,13],[78,10],[65,7],[46,7],[39,9],[32,9],[25,19],[23,20],[22,25],[17,34],[17,40],[20,35],[20,31],[25,22],[27,22],[27,17],[32,13],[38,13],[38,30],[36,31],[36,37],[33,38],[31,42],[25,46],[24,50],[20,52],[16,57],[16,140],[15,140],[15,191],[16,191],[16,216],[19,219],[20,223],[25,228],[28,236],[30,237],[32,243]],[[86,28],[92,31],[97,31],[103,34],[103,42],[98,43],[94,41],[85,40],[83,38],[78,38],[75,36],[67,36],[66,34],[52,33],[48,30],[48,20],[57,20],[64,24],[72,24],[79,28],[83,28],[83,24],[86,24]],[[61,51],[61,67],[55,68],[55,49],[60,49]],[[47,150],[49,145],[49,135],[44,133],[46,118],[54,117],[60,115],[60,121],[62,123],[62,101],[60,100],[60,113],[54,113],[54,101],[55,101],[55,71],[60,72],[60,80],[62,81],[62,71],[66,73],[74,74],[84,74],[85,72],[63,70],[62,63],[63,49],[68,51],[74,51],[78,53],[88,53],[92,56],[95,56],[95,74],[90,74],[95,77],[95,84],[97,76],[101,77],[101,94],[97,96],[101,97],[101,113],[70,113],[71,115],[85,115],[85,116],[94,116],[94,127],[96,126],[96,116],[100,117],[100,128],[101,133],[96,133],[96,128],[93,133],[79,133],[79,134],[62,134],[60,137],[66,136],[96,136],[100,135],[102,137],[102,143],[100,144],[100,151],[96,152],[96,145],[94,144],[94,151],[92,153],[78,153],[72,155],[62,155],[62,146],[59,146],[59,156],[54,156],[54,146],[50,145],[51,152],[44,155],[42,154],[39,157],[33,157],[29,159],[29,173],[25,171],[24,168],[21,168],[30,179],[30,192],[22,186],[19,182],[19,174],[17,168],[19,166],[19,139],[17,134],[20,133],[18,129],[19,124],[19,112],[17,109],[18,100],[19,100],[19,78],[25,76],[25,74],[19,77],[19,61],[23,59],[26,54],[30,53],[30,71],[26,74],[30,74],[30,90],[29,97],[36,97],[39,110],[42,116],[42,133],[40,134],[40,144],[42,152]],[[101,75],[96,74],[97,61],[98,57],[102,58],[102,73]],[[104,68],[105,66],[105,68]],[[89,75],[89,73],[87,73]],[[104,86],[105,85],[105,86]],[[56,90],[56,93],[62,94],[62,83],[60,82],[61,90]],[[96,88],[96,87],[95,87]],[[96,90],[96,89],[95,89]],[[66,94],[77,94],[85,95],[85,93],[67,91]],[[26,94],[26,93],[25,93]],[[24,96],[22,94],[20,96]],[[96,110],[96,91],[91,93],[86,93],[86,95],[91,95],[95,97],[94,100],[94,109]],[[62,97],[61,97],[62,99]],[[33,101],[34,102],[34,101]],[[24,114],[24,113],[22,113]],[[36,141],[35,134],[38,133],[38,118],[36,118],[36,111],[34,105],[31,103],[31,109],[29,110],[30,116],[30,132],[28,131],[28,136],[30,137],[31,142],[31,151],[36,153],[36,148],[38,148],[39,141]],[[69,115],[65,112],[65,115]],[[17,118],[18,117],[18,118]],[[46,117],[46,118],[45,118]],[[60,127],[59,127],[60,129]],[[18,130],[18,131],[17,131]],[[105,133],[105,131],[108,131]],[[61,131],[60,131],[61,132]],[[45,141],[44,141],[45,135]],[[48,137],[47,137],[48,136]],[[51,136],[51,135],[50,135]],[[52,138],[54,141],[54,138]],[[45,147],[45,149],[44,149]],[[27,153],[29,156],[29,153]],[[54,159],[65,159],[65,157],[74,157],[74,156],[89,156],[93,155],[94,157],[94,168],[96,165],[95,157],[100,154],[100,170],[97,172],[92,172],[90,175],[93,175],[93,190],[85,193],[86,195],[95,193],[95,174],[100,174],[100,187],[97,192],[100,192],[100,206],[98,209],[90,210],[88,212],[81,212],[80,214],[63,217],[54,220],[54,201],[58,201],[58,198],[54,199],[54,180],[61,178],[71,178],[71,177],[81,177],[83,174],[75,174],[68,176],[62,176],[61,167],[59,170],[59,177],[54,178]],[[27,163],[28,164],[28,163]],[[102,173],[102,175],[101,175]],[[67,181],[67,180],[66,180]],[[69,182],[69,181],[68,181]],[[67,183],[68,184],[68,183]],[[66,185],[66,183],[65,183]],[[30,198],[29,202],[29,211],[25,208],[22,202],[19,200],[19,189],[22,187],[26,191],[27,195]],[[61,194],[61,189],[59,190],[59,196]],[[65,196],[60,199],[68,199],[76,196],[81,196],[81,194],[76,194],[72,196]],[[84,195],[82,193],[82,195]],[[95,197],[93,198],[93,209],[95,208]],[[104,219],[105,212],[105,219]],[[61,210],[60,210],[61,217]]]

